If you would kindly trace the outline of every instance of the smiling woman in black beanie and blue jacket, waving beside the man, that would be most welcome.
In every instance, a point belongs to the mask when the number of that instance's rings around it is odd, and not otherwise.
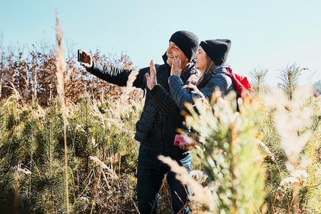
[[[228,51],[230,51],[230,40],[206,40],[200,42],[198,52],[194,56],[195,68],[201,73],[196,86],[209,101],[215,88],[219,89],[222,96],[227,95],[231,90],[235,90],[232,79],[225,75],[225,73],[229,73],[229,68],[225,64]],[[180,109],[186,111],[184,105],[186,102],[194,104],[195,98],[202,97],[198,93],[191,93],[184,87],[183,81],[180,79],[180,58],[178,57],[174,58],[168,83],[170,93]]]

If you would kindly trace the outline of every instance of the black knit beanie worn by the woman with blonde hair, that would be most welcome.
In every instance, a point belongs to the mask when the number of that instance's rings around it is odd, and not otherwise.
[[[206,54],[212,59],[216,66],[220,66],[228,59],[228,51],[230,51],[229,39],[213,39],[201,41],[200,46]]]

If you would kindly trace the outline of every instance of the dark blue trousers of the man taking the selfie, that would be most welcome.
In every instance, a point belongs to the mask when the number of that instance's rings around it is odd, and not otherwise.
[[[179,180],[175,178],[175,173],[170,171],[170,167],[158,160],[158,156],[169,156],[170,153],[156,152],[148,150],[143,146],[139,148],[138,154],[138,171],[137,171],[137,199],[138,209],[141,214],[156,213],[159,190],[161,188],[165,173],[167,175],[167,182],[170,187],[172,195],[172,207],[174,213],[190,213],[190,208],[186,206],[188,203],[188,195],[190,189],[184,186]],[[174,158],[179,165],[192,170],[192,156],[183,156],[181,158]],[[179,195],[179,198],[178,198]]]

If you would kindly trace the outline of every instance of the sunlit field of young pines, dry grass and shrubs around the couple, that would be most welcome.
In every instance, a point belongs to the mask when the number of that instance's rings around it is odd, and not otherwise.
[[[58,18],[56,33],[56,47],[31,58],[1,53],[0,213],[138,213],[143,93],[88,75],[64,56]],[[128,56],[94,56],[132,68]],[[288,66],[269,88],[267,71],[253,71],[240,112],[233,94],[189,106],[195,171],[163,161],[191,186],[193,213],[321,212],[320,96],[300,86],[301,72]],[[165,182],[158,210],[171,210]]]

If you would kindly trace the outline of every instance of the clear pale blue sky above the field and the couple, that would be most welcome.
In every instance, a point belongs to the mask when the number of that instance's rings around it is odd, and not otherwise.
[[[301,83],[321,79],[321,1],[16,1],[0,0],[4,46],[55,42],[55,10],[65,49],[127,54],[135,66],[162,63],[168,39],[178,30],[200,41],[230,39],[228,63],[249,75],[267,68],[276,86],[279,70],[297,63]],[[314,75],[312,76],[312,73]]]

